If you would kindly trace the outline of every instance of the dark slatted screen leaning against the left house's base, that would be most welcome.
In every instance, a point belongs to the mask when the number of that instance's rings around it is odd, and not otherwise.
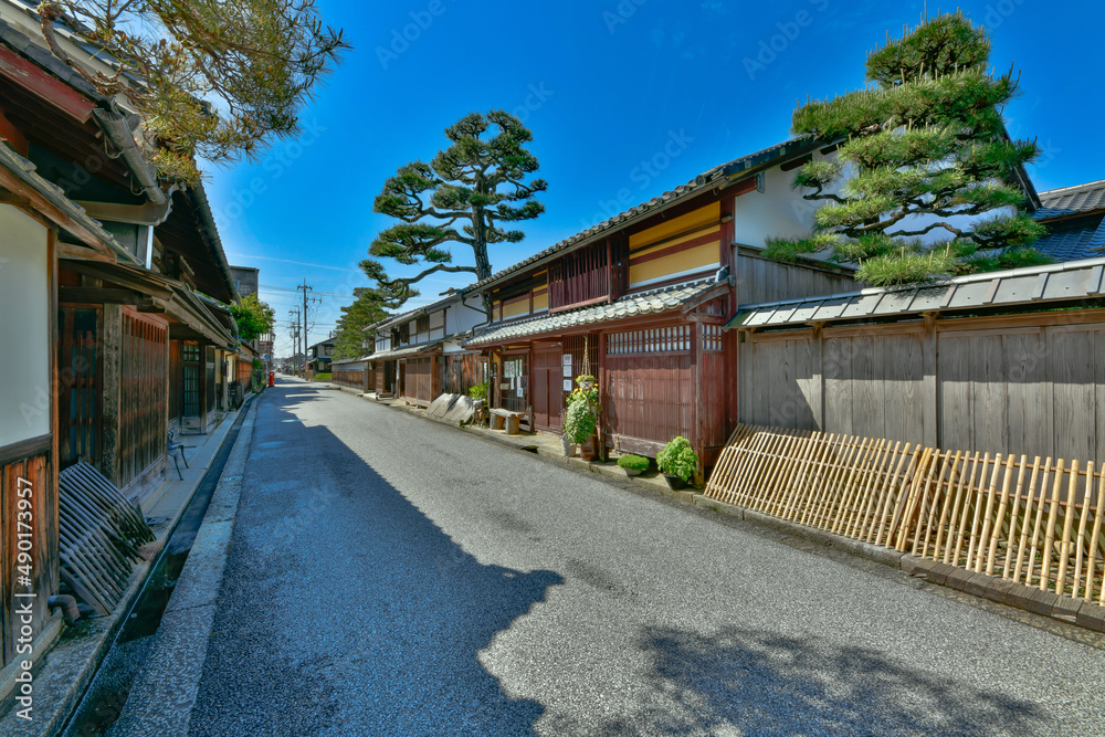
[[[118,604],[138,548],[154,539],[141,514],[92,465],[57,475],[61,578],[99,614]]]

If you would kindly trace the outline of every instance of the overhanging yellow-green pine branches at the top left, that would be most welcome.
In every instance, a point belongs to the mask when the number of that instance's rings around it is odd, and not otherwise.
[[[45,0],[39,12],[53,54],[101,94],[124,98],[138,113],[146,159],[186,181],[199,180],[197,157],[255,160],[295,136],[304,105],[348,48],[314,0]],[[117,73],[82,66],[57,25]]]

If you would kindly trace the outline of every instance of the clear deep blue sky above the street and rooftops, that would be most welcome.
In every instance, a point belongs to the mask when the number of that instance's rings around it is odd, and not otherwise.
[[[495,246],[504,269],[718,164],[785,140],[796,103],[863,84],[869,50],[916,23],[922,2],[610,0],[558,3],[320,0],[354,50],[303,115],[304,134],[255,164],[209,170],[230,262],[261,270],[276,308],[277,355],[305,278],[325,338],[357,269],[389,219],[372,199],[403,164],[429,160],[443,129],[504,108],[534,134],[549,190],[526,240]],[[934,3],[935,7],[935,3]],[[966,1],[991,36],[992,65],[1020,72],[1006,109],[1014,137],[1038,138],[1036,188],[1105,178],[1099,2]],[[455,263],[471,264],[464,246]],[[399,267],[391,273],[403,274]],[[408,270],[414,273],[413,270]],[[466,274],[420,284],[435,299]]]

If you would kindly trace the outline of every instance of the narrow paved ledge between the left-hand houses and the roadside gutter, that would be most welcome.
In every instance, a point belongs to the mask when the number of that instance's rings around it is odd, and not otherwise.
[[[260,394],[251,394],[246,398],[246,401],[243,402],[239,411],[252,411],[250,402],[256,397],[260,397]],[[229,436],[230,433],[228,432],[223,436],[219,448],[214,449],[212,457],[218,455],[219,451],[222,450],[222,445]],[[200,483],[202,483],[202,477]],[[115,611],[108,617],[88,620],[84,627],[90,628],[90,631],[82,633],[73,640],[65,640],[64,636],[66,633],[63,630],[59,639],[54,641],[53,646],[46,651],[40,661],[41,670],[34,677],[36,698],[34,718],[31,723],[15,722],[14,709],[11,709],[8,714],[0,717],[0,734],[12,735],[13,737],[48,737],[60,734],[61,729],[73,716],[81,699],[84,698],[84,694],[92,684],[93,677],[95,677],[104,657],[107,655],[107,651],[114,644],[116,636],[118,636],[119,630],[134,608],[138,596],[146,588],[150,575],[161,558],[165,545],[172,537],[173,531],[176,531],[185,509],[191,503],[200,483],[196,484],[196,488],[192,489],[191,495],[176,512],[173,519],[166,527],[165,534],[158,540],[150,544],[149,547],[145,548],[149,552],[149,558],[135,568],[135,571],[131,573],[133,580],[119,599],[119,604],[115,608]],[[78,623],[77,627],[82,627],[82,624]],[[56,698],[51,696],[52,701],[46,702],[44,705],[45,708],[43,708],[43,699],[39,696],[40,694],[63,695]]]

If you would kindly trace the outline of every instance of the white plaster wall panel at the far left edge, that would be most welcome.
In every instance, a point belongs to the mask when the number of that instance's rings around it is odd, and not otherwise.
[[[46,229],[0,204],[0,448],[50,432]]]

